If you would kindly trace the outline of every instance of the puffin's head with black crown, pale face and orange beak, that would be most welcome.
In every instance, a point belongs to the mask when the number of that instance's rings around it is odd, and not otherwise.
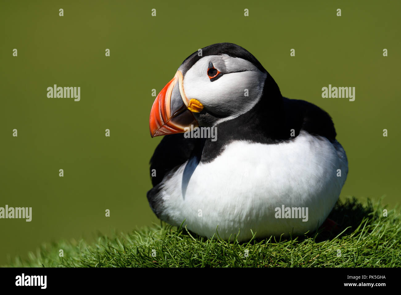
[[[270,80],[259,61],[242,47],[232,43],[207,46],[187,57],[156,97],[150,111],[150,134],[180,133],[191,124],[216,126],[237,118],[259,102]]]

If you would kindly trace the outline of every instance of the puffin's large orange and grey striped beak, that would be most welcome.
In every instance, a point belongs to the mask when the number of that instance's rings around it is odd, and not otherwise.
[[[194,112],[184,93],[182,74],[177,71],[153,103],[149,118],[150,136],[182,133],[186,131],[185,127],[199,126],[188,108]]]

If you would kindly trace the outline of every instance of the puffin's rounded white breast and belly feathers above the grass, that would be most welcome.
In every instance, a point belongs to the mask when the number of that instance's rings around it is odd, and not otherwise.
[[[183,195],[186,165],[164,179],[160,218],[175,226],[185,219],[188,230],[201,236],[213,236],[217,226],[223,239],[240,232],[239,240],[251,238],[251,230],[266,237],[316,229],[332,210],[348,173],[337,141],[304,131],[279,144],[232,142],[213,162],[196,166]],[[308,208],[308,221],[276,218],[275,208],[282,205]]]

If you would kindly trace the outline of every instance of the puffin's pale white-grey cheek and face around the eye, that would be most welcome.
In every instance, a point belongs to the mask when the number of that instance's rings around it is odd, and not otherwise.
[[[223,74],[214,81],[208,76],[210,63]],[[219,124],[245,114],[257,104],[266,76],[267,73],[245,59],[209,55],[199,59],[185,73],[184,92],[188,100],[195,98],[201,102],[207,112],[224,117],[216,122]],[[246,90],[248,96],[245,96]]]

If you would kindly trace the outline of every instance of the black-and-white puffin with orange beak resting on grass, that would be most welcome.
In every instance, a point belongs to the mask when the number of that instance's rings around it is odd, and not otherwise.
[[[152,138],[164,135],[150,159],[150,208],[207,238],[314,232],[348,174],[330,115],[283,97],[261,63],[233,43],[188,56],[156,97],[149,126]],[[201,128],[214,138],[195,136]]]

